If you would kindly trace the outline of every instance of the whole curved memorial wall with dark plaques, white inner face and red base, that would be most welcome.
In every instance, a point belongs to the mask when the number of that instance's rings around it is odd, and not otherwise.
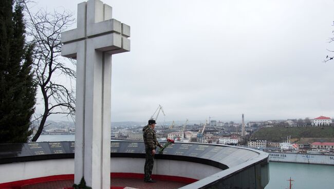
[[[20,188],[42,178],[72,178],[74,144],[0,144],[0,188]],[[143,142],[112,141],[111,176],[143,177],[144,148]],[[153,175],[190,183],[183,189],[264,188],[269,182],[268,154],[227,145],[175,143],[156,155]]]

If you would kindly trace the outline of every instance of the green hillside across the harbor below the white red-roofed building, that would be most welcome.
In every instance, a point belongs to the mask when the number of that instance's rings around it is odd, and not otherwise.
[[[250,139],[283,142],[287,136],[296,141],[301,138],[334,139],[334,127],[266,127],[253,133]]]

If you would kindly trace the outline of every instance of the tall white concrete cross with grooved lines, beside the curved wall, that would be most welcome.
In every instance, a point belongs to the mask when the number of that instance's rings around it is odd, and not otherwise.
[[[99,0],[78,4],[77,28],[62,33],[62,55],[77,59],[75,183],[110,188],[112,54],[130,50],[130,27]]]

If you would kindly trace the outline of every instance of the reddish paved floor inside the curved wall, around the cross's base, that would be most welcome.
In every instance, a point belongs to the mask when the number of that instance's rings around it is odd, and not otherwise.
[[[63,189],[64,187],[71,187],[74,180],[58,180],[48,181],[38,184],[30,184],[21,187],[22,189]],[[134,178],[112,178],[112,186],[134,187],[139,189],[173,189],[187,185],[182,182],[157,180],[156,183],[146,183],[143,179]]]

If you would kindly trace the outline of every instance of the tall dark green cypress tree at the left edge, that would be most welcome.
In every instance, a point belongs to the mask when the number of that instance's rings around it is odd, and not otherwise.
[[[0,1],[0,143],[27,142],[36,87],[20,0]]]

